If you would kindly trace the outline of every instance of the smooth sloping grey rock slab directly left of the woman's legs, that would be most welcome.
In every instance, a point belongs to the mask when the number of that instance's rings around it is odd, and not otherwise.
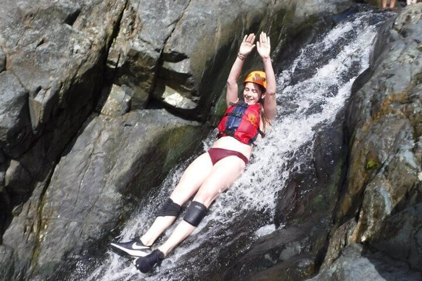
[[[197,123],[164,110],[88,120],[56,166],[41,202],[35,272],[49,276],[65,255],[77,257],[86,241],[99,239],[115,227],[174,162],[196,149],[199,130]],[[137,177],[145,181],[128,190]],[[8,233],[7,238],[5,244],[15,244]]]

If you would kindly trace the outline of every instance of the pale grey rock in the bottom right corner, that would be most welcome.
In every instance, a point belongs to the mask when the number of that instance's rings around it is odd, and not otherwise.
[[[412,271],[408,265],[372,253],[360,244],[348,245],[329,269],[321,272],[312,281],[352,280],[421,280],[421,273]]]

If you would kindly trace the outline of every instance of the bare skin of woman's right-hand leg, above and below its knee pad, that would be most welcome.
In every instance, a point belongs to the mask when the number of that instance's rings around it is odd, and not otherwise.
[[[218,161],[214,165],[210,176],[199,188],[194,201],[200,202],[208,208],[221,192],[239,178],[244,169],[245,163],[236,156],[229,156]],[[166,256],[174,247],[188,237],[195,228],[195,226],[182,220],[169,239],[158,249]]]

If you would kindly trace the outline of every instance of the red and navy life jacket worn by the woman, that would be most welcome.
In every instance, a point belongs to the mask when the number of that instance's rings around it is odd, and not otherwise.
[[[250,145],[256,140],[258,134],[264,136],[259,129],[261,104],[248,105],[244,101],[239,101],[238,103],[230,102],[230,105],[218,124],[218,138],[232,136]]]

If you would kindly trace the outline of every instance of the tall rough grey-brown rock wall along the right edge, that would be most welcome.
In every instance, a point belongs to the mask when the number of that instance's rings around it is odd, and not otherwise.
[[[348,254],[358,247],[348,246],[353,243],[410,266],[411,270],[389,277],[392,280],[421,279],[412,272],[422,270],[421,14],[422,3],[409,5],[385,25],[371,67],[355,82],[347,108],[346,130],[351,137],[347,184],[316,280],[342,280],[339,276],[344,277],[356,259]],[[340,261],[346,263],[343,269]],[[368,262],[388,279],[384,266]]]

